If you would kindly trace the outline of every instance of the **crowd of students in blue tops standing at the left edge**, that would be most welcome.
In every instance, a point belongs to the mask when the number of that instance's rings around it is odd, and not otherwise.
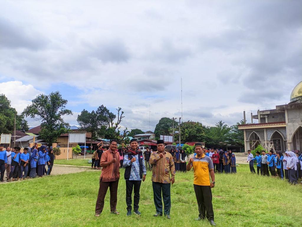
[[[37,147],[37,143],[32,148],[24,148],[23,152],[20,147],[8,146],[4,150],[0,144],[0,181],[4,181],[5,171],[8,182],[50,175],[53,161],[53,149],[48,151],[45,146]]]

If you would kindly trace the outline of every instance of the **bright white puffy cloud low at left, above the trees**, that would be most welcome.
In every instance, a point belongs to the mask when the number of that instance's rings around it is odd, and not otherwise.
[[[25,85],[21,81],[8,81],[0,83],[0,93],[4,94],[10,101],[11,107],[20,114],[31,100],[42,92],[35,89],[31,84]]]

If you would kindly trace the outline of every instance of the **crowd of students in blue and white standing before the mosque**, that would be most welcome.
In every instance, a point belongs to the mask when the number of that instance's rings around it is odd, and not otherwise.
[[[254,162],[257,166],[257,174],[259,172],[263,176],[280,177],[281,179],[288,180],[291,184],[298,183],[298,180],[302,178],[302,154],[295,153],[293,151],[286,151],[285,156],[282,152],[275,153],[274,151],[256,152],[256,157],[248,151],[248,157],[246,162],[249,162],[251,173],[256,173],[254,168]],[[277,171],[276,171],[277,170]]]

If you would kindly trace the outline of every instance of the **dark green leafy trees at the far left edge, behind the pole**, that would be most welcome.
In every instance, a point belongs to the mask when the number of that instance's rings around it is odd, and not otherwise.
[[[17,115],[16,109],[11,107],[11,101],[0,94],[0,133],[13,133],[15,114],[16,130],[27,131],[28,125],[24,115]]]

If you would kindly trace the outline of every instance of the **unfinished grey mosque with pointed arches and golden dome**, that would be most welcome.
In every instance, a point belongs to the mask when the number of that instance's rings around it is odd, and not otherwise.
[[[243,114],[246,119],[246,114]],[[258,119],[258,123],[253,123]],[[276,109],[251,113],[251,124],[239,125],[244,132],[245,152],[259,144],[267,151],[302,150],[302,81],[291,92],[290,102]]]

